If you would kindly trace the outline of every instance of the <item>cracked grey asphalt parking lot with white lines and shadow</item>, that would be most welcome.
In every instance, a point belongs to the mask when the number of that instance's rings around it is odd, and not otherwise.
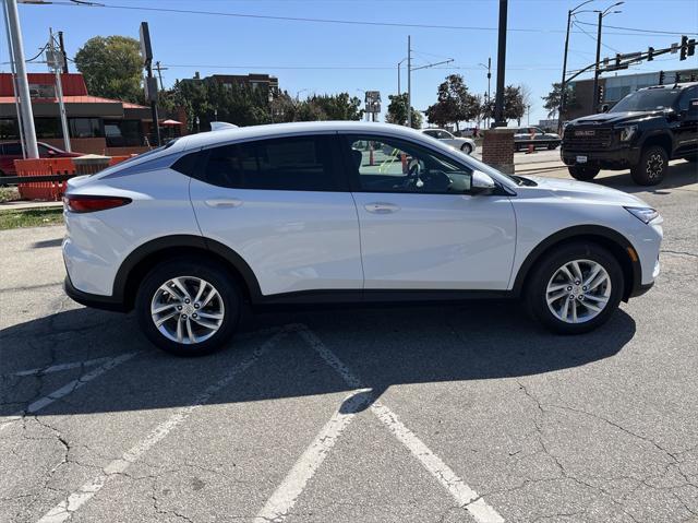
[[[698,173],[598,182],[660,210],[662,273],[577,337],[473,301],[173,358],[63,295],[62,227],[0,233],[0,521],[698,521]]]

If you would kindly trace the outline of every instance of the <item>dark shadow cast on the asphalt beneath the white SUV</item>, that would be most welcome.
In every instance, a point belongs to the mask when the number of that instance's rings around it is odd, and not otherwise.
[[[294,324],[288,329],[287,325]],[[516,378],[580,367],[615,356],[635,321],[618,310],[589,334],[557,336],[540,329],[517,301],[394,309],[329,309],[267,313],[243,322],[230,346],[201,358],[177,358],[149,345],[132,314],[79,308],[0,331],[0,415],[22,413],[98,362],[135,352],[128,361],[35,414],[70,415],[180,407],[281,336],[210,403],[238,403],[345,392],[346,382],[298,334],[311,332],[362,385],[380,396],[390,385]],[[83,367],[17,376],[75,361]],[[97,361],[97,362],[95,362]],[[80,389],[80,390],[77,390]]]

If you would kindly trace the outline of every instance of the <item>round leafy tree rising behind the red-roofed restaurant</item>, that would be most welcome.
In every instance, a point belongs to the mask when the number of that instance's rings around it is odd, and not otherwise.
[[[142,60],[139,40],[128,36],[95,36],[75,55],[87,91],[94,96],[142,102]]]

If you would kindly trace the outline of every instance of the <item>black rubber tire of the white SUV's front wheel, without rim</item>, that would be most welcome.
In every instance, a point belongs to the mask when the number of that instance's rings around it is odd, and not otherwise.
[[[557,318],[553,311],[551,311],[546,299],[549,282],[551,282],[559,268],[574,260],[590,260],[600,264],[606,271],[609,280],[611,281],[610,296],[607,297],[605,307],[595,317],[580,323],[567,323]],[[581,266],[583,269],[585,264],[582,263]],[[585,276],[588,275],[588,273],[585,274]],[[566,290],[567,289],[563,289],[565,293]],[[579,288],[573,288],[570,294],[577,290],[579,290]],[[618,308],[623,293],[623,271],[613,254],[598,243],[591,241],[575,241],[547,251],[544,258],[538,261],[535,269],[527,280],[526,301],[529,313],[549,331],[557,334],[581,334],[592,331],[609,321]],[[579,295],[577,294],[575,296],[578,297]],[[568,299],[567,294],[564,299]],[[587,299],[587,301],[594,304],[594,301],[590,301],[589,299]],[[586,309],[583,300],[571,300],[570,302],[576,304],[575,307],[580,311],[580,318],[582,313],[590,312]],[[552,306],[556,307],[557,304],[564,305],[562,301],[558,301],[553,302]]]

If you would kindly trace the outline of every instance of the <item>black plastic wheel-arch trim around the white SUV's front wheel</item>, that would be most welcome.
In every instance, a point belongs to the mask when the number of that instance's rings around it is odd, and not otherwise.
[[[617,255],[619,251],[623,251],[626,257],[627,264],[629,264],[629,266],[631,268],[630,277],[633,278],[633,281],[629,282],[630,285],[626,285],[626,287],[628,288],[624,289],[624,299],[627,299],[642,283],[642,266],[640,265],[640,261],[638,260],[637,255],[634,259],[628,253],[628,248],[633,249],[633,251],[635,252],[633,243],[630,243],[630,241],[621,233],[609,227],[603,227],[601,225],[575,225],[573,227],[567,227],[565,229],[558,230],[557,233],[552,234],[543,241],[541,241],[538,246],[535,246],[535,248],[533,248],[533,250],[531,250],[531,252],[529,252],[528,257],[526,257],[526,260],[524,260],[524,263],[521,263],[521,266],[519,268],[519,271],[516,275],[516,280],[514,281],[514,294],[517,296],[520,296],[522,294],[526,278],[533,268],[533,264],[538,261],[541,254],[543,254],[543,252],[545,252],[551,247],[561,243],[562,241],[568,239],[581,239],[583,237],[589,239],[593,239],[593,237],[603,238],[607,242],[612,242],[613,245],[617,246],[617,249],[615,249],[615,252],[613,252],[613,254],[615,255]],[[623,269],[623,260],[619,261],[621,268]],[[626,278],[627,276],[628,275],[626,274]]]

